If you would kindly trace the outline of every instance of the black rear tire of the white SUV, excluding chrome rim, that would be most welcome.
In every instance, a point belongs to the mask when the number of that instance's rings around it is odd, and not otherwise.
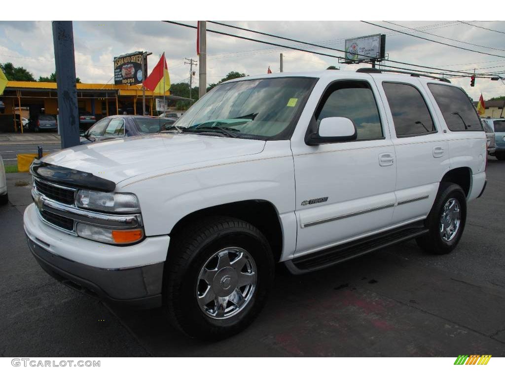
[[[456,199],[460,205],[460,225],[456,234],[450,240],[444,240],[440,235],[440,220],[445,204],[450,199]],[[429,254],[445,255],[458,245],[465,229],[467,217],[467,202],[465,192],[460,185],[452,182],[441,182],[438,188],[437,198],[431,208],[425,225],[429,229],[427,234],[416,238],[417,244]]]

